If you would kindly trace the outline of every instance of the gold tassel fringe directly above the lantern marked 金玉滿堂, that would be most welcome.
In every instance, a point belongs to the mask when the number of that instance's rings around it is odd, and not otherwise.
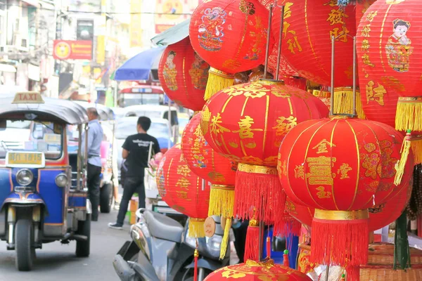
[[[334,89],[333,112],[334,114],[353,114],[353,89]],[[356,90],[356,112],[359,119],[366,119],[359,90]]]

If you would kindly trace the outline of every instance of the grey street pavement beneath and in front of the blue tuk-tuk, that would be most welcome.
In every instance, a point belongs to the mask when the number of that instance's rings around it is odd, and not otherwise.
[[[0,281],[56,281],[56,280],[119,280],[113,268],[113,257],[126,240],[130,240],[129,226],[123,230],[108,228],[107,223],[116,220],[117,211],[100,214],[91,223],[91,254],[88,258],[75,256],[76,242],[61,244],[52,242],[37,249],[33,270],[19,272],[15,268],[15,251],[6,250],[6,242],[0,242]]]

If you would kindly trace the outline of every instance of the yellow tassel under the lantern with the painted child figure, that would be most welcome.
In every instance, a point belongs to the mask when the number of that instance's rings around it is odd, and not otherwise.
[[[400,97],[395,121],[397,131],[422,131],[422,97]]]

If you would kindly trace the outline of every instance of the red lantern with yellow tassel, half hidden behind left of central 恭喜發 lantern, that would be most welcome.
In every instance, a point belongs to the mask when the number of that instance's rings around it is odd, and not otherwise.
[[[181,150],[189,169],[211,183],[208,216],[224,216],[226,221],[220,258],[226,255],[231,217],[234,207],[234,183],[237,163],[215,152],[205,141],[200,130],[200,115],[195,115],[186,125],[181,137]]]

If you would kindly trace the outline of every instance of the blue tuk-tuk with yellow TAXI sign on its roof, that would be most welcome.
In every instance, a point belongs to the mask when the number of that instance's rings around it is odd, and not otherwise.
[[[27,141],[17,137],[19,145],[0,140],[0,240],[16,251],[18,270],[31,270],[35,249],[58,240],[76,240],[76,255],[89,256],[87,123],[87,110],[69,100],[37,92],[0,97],[0,131],[31,128]],[[85,130],[85,148],[79,138],[75,155],[65,141],[69,124]]]

